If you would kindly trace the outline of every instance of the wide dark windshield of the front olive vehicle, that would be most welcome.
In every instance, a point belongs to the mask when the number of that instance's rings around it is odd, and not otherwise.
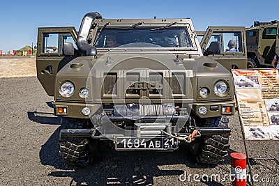
[[[164,30],[154,30],[156,27],[121,30],[121,28],[106,28],[100,33],[96,47],[119,47],[130,43],[146,42],[153,45],[143,47],[193,47],[187,29],[172,27]],[[100,28],[99,28],[100,30]]]

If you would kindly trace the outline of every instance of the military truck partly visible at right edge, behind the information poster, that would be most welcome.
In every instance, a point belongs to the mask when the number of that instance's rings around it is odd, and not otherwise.
[[[278,21],[257,21],[246,29],[248,68],[273,68],[271,62],[279,54],[278,29]]]

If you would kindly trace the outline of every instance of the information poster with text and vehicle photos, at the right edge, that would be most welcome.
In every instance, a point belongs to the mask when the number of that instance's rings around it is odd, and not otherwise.
[[[232,70],[239,116],[248,140],[279,140],[279,72]]]

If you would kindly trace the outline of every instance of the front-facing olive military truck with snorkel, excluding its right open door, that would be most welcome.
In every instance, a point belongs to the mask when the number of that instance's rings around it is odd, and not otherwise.
[[[87,13],[78,33],[38,28],[36,65],[61,117],[59,152],[69,164],[92,162],[100,143],[165,152],[188,144],[185,153],[206,164],[227,156],[232,77],[203,56],[189,18]]]

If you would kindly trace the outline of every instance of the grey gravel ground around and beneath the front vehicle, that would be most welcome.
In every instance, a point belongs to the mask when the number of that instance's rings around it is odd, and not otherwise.
[[[199,165],[186,146],[173,153],[116,152],[113,147],[103,146],[93,164],[68,166],[59,156],[60,119],[51,115],[52,97],[36,77],[0,78],[0,102],[0,185],[230,185],[228,176],[223,181],[195,182],[190,174],[199,174],[197,180],[203,174],[219,174],[221,178],[229,174],[229,157],[217,166]],[[239,118],[235,115],[229,119],[233,129],[229,153],[245,153]],[[247,141],[250,157],[279,160],[278,143]],[[179,180],[183,173],[187,173],[185,182]],[[279,185],[275,161],[252,161],[252,173],[259,174],[259,181],[277,180],[255,185]]]

